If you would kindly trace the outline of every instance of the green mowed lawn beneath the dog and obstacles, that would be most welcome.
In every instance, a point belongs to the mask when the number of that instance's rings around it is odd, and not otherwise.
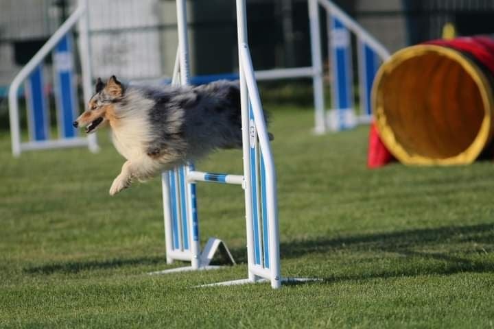
[[[239,186],[198,185],[202,243],[239,265],[149,276],[165,262],[158,178],[110,197],[124,160],[102,150],[10,155],[0,137],[1,328],[492,328],[494,163],[366,169],[368,127],[314,136],[309,109],[272,110],[281,271],[246,278]],[[198,164],[241,173],[239,151]],[[181,265],[178,263],[177,265]]]

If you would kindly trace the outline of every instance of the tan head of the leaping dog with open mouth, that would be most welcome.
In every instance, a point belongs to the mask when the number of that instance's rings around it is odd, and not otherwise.
[[[88,108],[73,122],[74,127],[86,127],[86,133],[95,132],[115,115],[115,103],[124,96],[124,86],[112,75],[104,84],[98,77],[96,93],[89,100]]]

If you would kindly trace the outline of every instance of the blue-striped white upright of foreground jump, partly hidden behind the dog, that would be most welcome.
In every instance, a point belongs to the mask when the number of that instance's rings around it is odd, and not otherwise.
[[[190,70],[185,0],[177,0],[176,7],[178,49],[172,84],[186,85],[189,84]],[[212,177],[211,174],[194,171],[193,164],[177,167],[172,171],[162,173],[161,185],[163,189],[167,263],[172,264],[174,260],[185,260],[191,264],[187,267],[166,269],[150,274],[218,268],[218,266],[209,265],[217,249],[220,249],[224,256],[235,264],[231,253],[220,239],[209,239],[201,252],[195,184],[196,180],[201,180],[201,174],[203,174],[202,176]],[[204,178],[204,181],[208,180]]]

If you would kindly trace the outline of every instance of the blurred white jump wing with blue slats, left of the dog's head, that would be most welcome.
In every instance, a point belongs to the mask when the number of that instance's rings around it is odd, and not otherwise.
[[[86,146],[91,151],[97,151],[96,136],[78,137],[71,123],[77,117],[78,102],[75,97],[76,86],[73,70],[73,47],[71,29],[78,24],[79,50],[82,66],[82,81],[84,99],[91,97],[91,68],[89,60],[88,39],[88,3],[78,0],[78,6],[60,28],[47,40],[45,45],[27,62],[14,77],[9,88],[10,135],[12,139],[12,154],[20,156],[21,151],[35,149],[51,149],[59,147]],[[45,79],[43,61],[54,52],[54,77],[56,97],[58,138],[49,138],[49,109],[45,95]],[[19,119],[19,88],[25,82],[27,99],[27,121],[30,141],[23,142],[21,138],[21,123]]]

